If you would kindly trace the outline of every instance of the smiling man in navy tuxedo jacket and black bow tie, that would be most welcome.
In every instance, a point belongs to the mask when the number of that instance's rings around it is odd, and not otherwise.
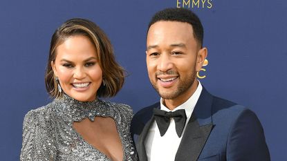
[[[149,23],[146,53],[149,79],[161,98],[131,122],[140,161],[270,160],[257,116],[211,95],[196,79],[207,48],[192,11],[157,12]]]

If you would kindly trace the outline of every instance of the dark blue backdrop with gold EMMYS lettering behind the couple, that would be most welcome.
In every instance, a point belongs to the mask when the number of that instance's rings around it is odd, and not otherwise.
[[[128,76],[110,100],[134,112],[157,102],[145,63],[147,25],[155,12],[170,7],[193,10],[203,23],[208,64],[199,73],[201,83],[252,109],[272,160],[287,160],[284,0],[0,1],[0,160],[19,160],[24,115],[51,101],[44,84],[50,37],[67,19],[90,19],[111,39]]]

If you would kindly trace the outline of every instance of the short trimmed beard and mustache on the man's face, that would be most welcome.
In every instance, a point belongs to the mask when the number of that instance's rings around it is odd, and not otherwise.
[[[192,73],[187,75],[187,77],[181,77],[181,79],[180,79],[180,75],[179,75],[179,77],[177,78],[179,83],[178,83],[178,86],[177,86],[175,91],[170,91],[170,92],[163,92],[162,91],[162,92],[160,92],[156,82],[151,82],[151,84],[152,84],[152,86],[154,86],[154,89],[158,92],[160,97],[162,97],[165,100],[173,100],[176,97],[178,97],[178,96],[182,95],[183,93],[185,93],[186,91],[188,91],[189,88],[191,88],[192,84],[194,84],[194,80],[196,78],[196,73],[194,73],[194,71],[195,70],[193,70]],[[174,73],[174,72],[171,72],[171,73]],[[171,74],[167,73],[167,75],[171,75]],[[160,80],[158,80],[158,81],[160,81]]]

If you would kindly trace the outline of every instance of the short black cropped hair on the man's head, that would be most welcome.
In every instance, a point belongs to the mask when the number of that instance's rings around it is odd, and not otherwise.
[[[149,28],[158,21],[179,21],[189,23],[194,30],[194,38],[198,41],[200,46],[203,45],[203,26],[201,20],[191,10],[186,8],[166,8],[160,10],[151,18]]]

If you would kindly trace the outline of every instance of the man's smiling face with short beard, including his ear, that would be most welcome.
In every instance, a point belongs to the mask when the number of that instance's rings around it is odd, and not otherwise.
[[[196,72],[207,51],[200,49],[189,23],[158,21],[151,25],[146,53],[149,79],[163,99],[183,99],[194,93]]]

